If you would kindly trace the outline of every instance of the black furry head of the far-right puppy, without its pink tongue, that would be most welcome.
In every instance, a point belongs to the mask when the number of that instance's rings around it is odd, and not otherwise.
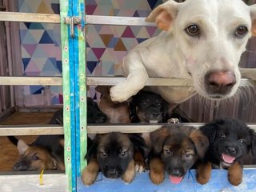
[[[218,118],[202,126],[200,130],[210,142],[206,161],[210,161],[215,166],[228,167],[232,165],[232,163],[223,160],[223,154],[234,157],[234,162],[240,164],[243,164],[242,158],[247,154],[252,153],[250,157],[254,156],[256,137],[254,130],[242,121]],[[253,162],[253,160],[250,162]]]

